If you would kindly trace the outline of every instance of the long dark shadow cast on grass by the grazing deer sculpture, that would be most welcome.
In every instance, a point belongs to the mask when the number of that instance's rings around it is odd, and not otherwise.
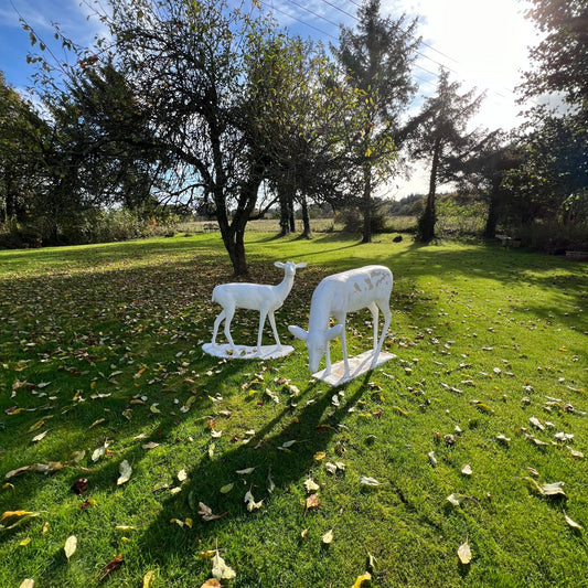
[[[321,392],[317,389],[317,384],[311,384],[297,397],[297,408],[284,407],[247,445],[238,442],[213,459],[204,453],[205,457],[191,466],[188,472],[190,483],[181,495],[161,499],[160,515],[142,530],[141,552],[152,554],[158,564],[164,567],[169,560],[185,558],[191,553],[214,546],[215,537],[234,533],[244,516],[264,516],[266,505],[270,507],[272,500],[267,489],[269,473],[276,484],[275,494],[291,493],[291,500],[298,503],[303,495],[301,482],[317,466],[316,453],[328,451],[333,436],[341,432],[339,425],[348,415],[348,409],[365,394],[370,376],[371,373],[366,374],[353,396],[345,397],[336,409],[331,404],[335,391],[329,388]],[[292,440],[297,442],[287,450],[279,449]],[[333,455],[330,459],[339,458]],[[248,468],[255,470],[249,474],[236,473]],[[234,487],[223,494],[220,489],[226,484]],[[244,496],[248,490],[256,501],[264,500],[260,511],[247,513]],[[226,514],[221,520],[204,522],[197,514],[200,502],[214,513]],[[302,512],[301,505],[301,515]],[[193,518],[194,526],[189,534],[178,534],[178,541],[170,544],[170,520],[181,517]],[[199,537],[196,545],[194,536]]]

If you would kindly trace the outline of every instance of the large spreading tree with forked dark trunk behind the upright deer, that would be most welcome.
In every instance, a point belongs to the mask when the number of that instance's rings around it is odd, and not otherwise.
[[[124,92],[93,115],[95,136],[110,143],[101,152],[129,152],[169,197],[212,203],[234,274],[246,275],[245,226],[268,164],[256,133],[264,101],[252,99],[246,62],[260,39],[276,36],[274,25],[214,0],[109,0],[97,15],[109,38],[83,51],[68,77],[89,79],[109,55],[125,72]]]

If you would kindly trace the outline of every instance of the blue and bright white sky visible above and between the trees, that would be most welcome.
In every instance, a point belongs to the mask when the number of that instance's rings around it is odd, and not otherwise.
[[[252,10],[252,0],[243,2]],[[264,12],[271,11],[279,24],[292,34],[336,43],[339,25],[357,24],[360,0],[258,0]],[[522,122],[517,114],[515,87],[521,72],[530,68],[528,46],[537,43],[537,33],[524,17],[526,0],[381,0],[384,15],[408,19],[418,17],[418,35],[423,38],[414,67],[418,96],[434,94],[440,66],[449,70],[450,81],[461,83],[463,92],[475,87],[487,98],[472,121],[493,130],[511,129]],[[64,58],[53,40],[52,24],[81,45],[89,45],[100,33],[100,23],[87,19],[89,10],[81,0],[0,0],[0,70],[6,81],[25,94],[32,84],[34,65],[26,63],[32,50],[29,33],[22,30],[23,18],[54,52]],[[252,12],[253,14],[253,12]],[[387,197],[402,197],[426,191],[426,173],[419,168],[409,181],[398,181],[386,190]]]

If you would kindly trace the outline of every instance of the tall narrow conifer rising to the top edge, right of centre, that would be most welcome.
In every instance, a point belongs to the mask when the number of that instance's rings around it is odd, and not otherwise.
[[[359,95],[355,116],[362,124],[352,148],[363,173],[361,209],[363,243],[372,240],[372,192],[378,181],[394,172],[399,115],[416,92],[410,64],[420,42],[415,38],[417,21],[403,15],[393,21],[379,15],[379,0],[366,0],[360,8],[357,31],[343,26],[339,47],[332,47],[343,65],[348,84]]]

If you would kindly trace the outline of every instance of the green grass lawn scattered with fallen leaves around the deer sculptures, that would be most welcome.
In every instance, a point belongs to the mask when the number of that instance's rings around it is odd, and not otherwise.
[[[588,586],[586,265],[392,235],[252,233],[247,250],[253,281],[309,264],[277,313],[288,357],[202,352],[231,274],[216,234],[0,252],[2,588],[197,588],[218,556],[235,587],[366,570],[373,587]],[[395,277],[396,359],[333,389],[287,325],[308,327],[324,276],[372,263]],[[237,312],[237,343],[257,320]],[[351,354],[368,320],[350,317]]]

